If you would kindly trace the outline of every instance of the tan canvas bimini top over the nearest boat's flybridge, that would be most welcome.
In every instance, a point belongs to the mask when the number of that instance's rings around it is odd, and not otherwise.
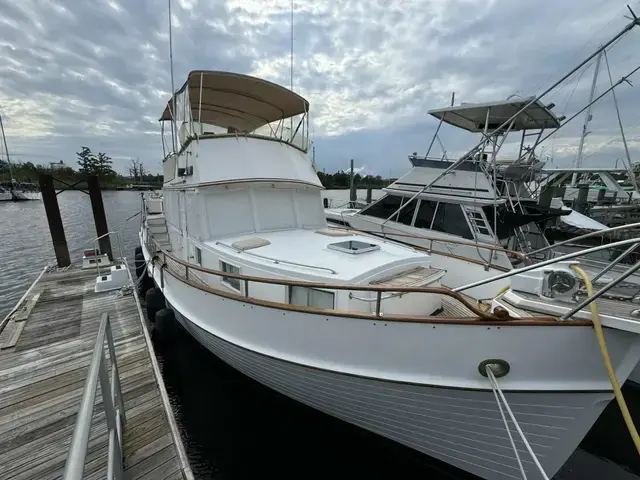
[[[193,120],[239,132],[309,110],[309,102],[287,88],[230,72],[194,70],[174,96],[179,124]],[[167,102],[160,121],[171,120],[173,100]]]

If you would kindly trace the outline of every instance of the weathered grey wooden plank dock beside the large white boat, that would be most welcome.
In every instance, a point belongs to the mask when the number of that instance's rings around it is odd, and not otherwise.
[[[109,314],[124,399],[126,479],[193,479],[135,292],[95,293],[96,270],[43,272],[0,325],[0,477],[62,478],[100,319]],[[85,479],[106,478],[100,386]]]

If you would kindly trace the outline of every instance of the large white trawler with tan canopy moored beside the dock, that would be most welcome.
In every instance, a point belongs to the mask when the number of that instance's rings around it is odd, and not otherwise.
[[[555,474],[638,362],[640,323],[573,302],[591,285],[579,254],[472,282],[458,255],[327,228],[308,112],[259,78],[189,74],[160,118],[162,195],[143,202],[147,297],[322,412],[482,478]]]

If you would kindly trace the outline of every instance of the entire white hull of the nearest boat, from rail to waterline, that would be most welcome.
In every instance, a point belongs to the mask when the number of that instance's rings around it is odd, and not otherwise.
[[[324,318],[207,293],[166,270],[162,279],[158,268],[151,273],[185,329],[232,367],[482,478],[521,476],[479,361],[510,362],[500,384],[549,476],[613,398],[589,327]],[[607,335],[618,375],[626,378],[640,354],[636,336]],[[517,446],[528,478],[542,478],[523,443]]]

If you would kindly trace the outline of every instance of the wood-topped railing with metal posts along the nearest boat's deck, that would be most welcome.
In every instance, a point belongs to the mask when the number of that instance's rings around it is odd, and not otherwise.
[[[200,265],[195,265],[189,262],[186,262],[182,259],[179,259],[171,254],[171,252],[167,251],[162,245],[156,242],[150,236],[147,236],[148,242],[147,247],[149,252],[151,252],[152,258],[158,259],[161,263],[160,265],[160,284],[161,287],[164,288],[164,275],[165,270],[168,271],[172,276],[179,275],[175,269],[172,271],[173,266],[167,262],[170,260],[171,263],[181,265],[184,267],[184,281],[189,283],[195,288],[205,290],[211,293],[220,294],[223,296],[229,297],[239,297],[243,298],[246,301],[260,304],[267,304],[269,306],[277,305],[279,308],[285,308],[287,310],[293,311],[301,311],[301,312],[317,312],[327,314],[330,311],[335,311],[335,309],[323,309],[323,308],[315,308],[315,307],[306,307],[299,305],[292,305],[288,303],[282,302],[272,302],[261,300],[257,298],[249,297],[249,283],[262,283],[262,284],[271,284],[271,285],[281,285],[285,287],[306,287],[306,288],[317,288],[317,289],[325,289],[325,290],[346,290],[346,291],[356,291],[356,292],[374,292],[376,294],[376,305],[375,305],[375,317],[380,317],[383,315],[381,313],[381,303],[384,298],[382,297],[383,293],[392,293],[392,294],[408,294],[408,293],[422,293],[422,294],[436,294],[436,295],[444,295],[451,297],[461,303],[464,307],[466,307],[473,315],[474,320],[489,322],[489,323],[504,323],[506,320],[518,320],[522,324],[527,324],[527,321],[530,322],[540,322],[544,321],[547,323],[555,323],[555,319],[549,316],[540,316],[540,317],[531,317],[526,320],[522,319],[514,319],[508,316],[508,313],[505,312],[504,315],[496,315],[489,311],[486,311],[481,308],[478,303],[474,303],[474,301],[468,297],[465,297],[461,293],[458,293],[447,287],[399,287],[399,286],[382,286],[382,285],[354,285],[347,283],[322,283],[322,282],[312,282],[306,280],[289,280],[282,278],[272,278],[272,277],[258,277],[253,275],[243,275],[239,273],[232,272],[224,272],[221,270],[214,270],[211,268],[206,268]],[[160,257],[162,255],[162,257]],[[155,263],[152,263],[155,265]],[[194,276],[190,275],[190,271],[194,270],[197,272],[202,272],[209,275],[214,275],[217,277],[225,277],[225,278],[235,278],[244,283],[244,295],[242,294],[234,294],[230,293],[227,290],[217,289],[212,287],[211,285],[205,284],[204,282],[197,282],[194,280]],[[353,312],[353,311],[340,311],[341,316],[355,317],[355,318],[371,318],[372,314],[367,314],[365,312]],[[420,321],[431,321],[437,322],[442,321],[443,323],[451,323],[452,319],[447,319],[443,317],[433,317],[433,316],[424,316],[424,315],[396,315],[396,314],[384,314],[385,318],[393,321],[410,321],[410,322],[420,322]],[[467,323],[466,320],[456,319],[459,323]],[[524,323],[523,323],[524,322]],[[587,322],[588,323],[588,322]]]

